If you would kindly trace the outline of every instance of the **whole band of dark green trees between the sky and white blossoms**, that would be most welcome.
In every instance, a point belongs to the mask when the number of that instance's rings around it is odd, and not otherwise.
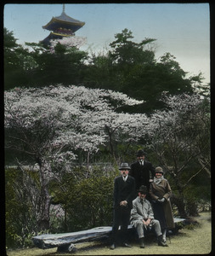
[[[91,88],[118,90],[144,100],[142,105],[127,108],[129,112],[151,113],[163,108],[161,93],[192,92],[201,74],[184,79],[185,72],[170,53],[155,59],[154,38],[133,41],[127,28],[116,33],[106,53],[92,54],[76,47],[56,44],[54,49],[42,44],[16,44],[13,32],[4,29],[5,89],[15,86],[45,86],[49,84],[82,84]],[[30,50],[31,49],[31,50]]]

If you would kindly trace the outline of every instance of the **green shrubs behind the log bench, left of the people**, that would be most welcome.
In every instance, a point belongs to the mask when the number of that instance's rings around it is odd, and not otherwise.
[[[35,186],[37,172],[7,169],[5,174],[7,247],[31,247],[31,237],[40,234],[35,215],[37,205],[23,183],[28,183],[31,177]],[[50,212],[50,228],[42,232],[60,233],[111,225],[113,181],[118,174],[104,166],[94,166],[90,171],[74,168],[71,173],[65,173],[61,182],[51,182],[52,201],[62,205],[65,217]],[[32,189],[30,183],[28,188]]]

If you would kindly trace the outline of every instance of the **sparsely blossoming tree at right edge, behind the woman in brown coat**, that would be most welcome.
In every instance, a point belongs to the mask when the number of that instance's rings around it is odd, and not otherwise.
[[[200,188],[199,183],[194,183],[196,177],[205,172],[207,185],[210,185],[209,102],[208,98],[201,99],[195,94],[165,97],[164,102],[167,109],[156,111],[150,119],[151,147],[171,177],[173,202],[180,216],[186,217],[189,212],[186,209],[191,203],[192,214],[197,214],[194,207],[196,198],[188,200],[191,195],[189,188]]]

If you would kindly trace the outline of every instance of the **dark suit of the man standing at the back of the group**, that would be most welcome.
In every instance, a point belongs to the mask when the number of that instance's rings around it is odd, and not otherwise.
[[[153,179],[155,176],[155,167],[146,160],[144,160],[143,166],[139,164],[139,161],[136,161],[131,165],[129,175],[135,178],[136,191],[138,191],[142,185],[146,186],[149,191],[150,178]]]

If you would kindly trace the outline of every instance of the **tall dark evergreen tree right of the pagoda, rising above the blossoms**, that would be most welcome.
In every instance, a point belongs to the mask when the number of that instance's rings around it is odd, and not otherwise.
[[[93,55],[84,81],[87,86],[118,90],[144,100],[142,104],[126,110],[147,114],[164,108],[161,102],[163,91],[168,95],[192,93],[194,79],[186,79],[187,73],[173,55],[165,53],[156,60],[156,39],[144,38],[136,43],[133,32],[127,28],[116,33],[115,38],[107,53]]]

